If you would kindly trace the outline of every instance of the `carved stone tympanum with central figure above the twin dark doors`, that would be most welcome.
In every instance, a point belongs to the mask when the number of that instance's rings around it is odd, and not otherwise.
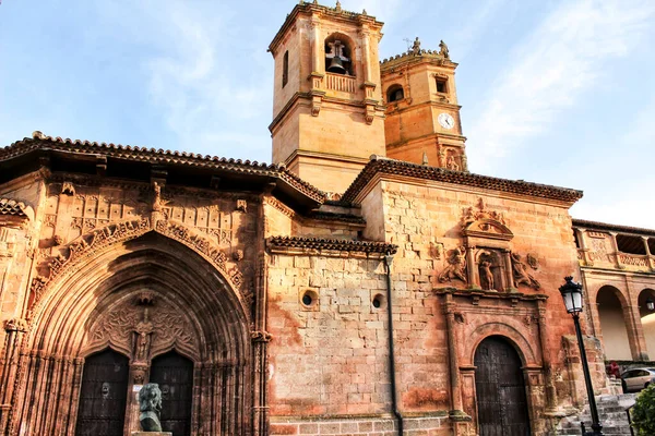
[[[128,354],[134,364],[171,348],[198,360],[198,335],[191,323],[167,300],[151,296],[128,299],[97,314],[86,348],[111,346]]]

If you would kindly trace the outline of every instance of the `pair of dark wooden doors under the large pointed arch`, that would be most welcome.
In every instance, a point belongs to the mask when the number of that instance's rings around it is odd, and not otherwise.
[[[129,387],[129,360],[112,350],[86,359],[78,409],[76,436],[123,436]],[[193,363],[169,352],[153,360],[151,383],[162,389],[162,428],[191,435]]]

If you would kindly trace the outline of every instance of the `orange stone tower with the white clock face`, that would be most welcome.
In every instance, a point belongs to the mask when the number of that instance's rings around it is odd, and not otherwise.
[[[443,41],[439,50],[425,50],[418,38],[407,52],[381,62],[388,157],[468,171],[456,68]]]

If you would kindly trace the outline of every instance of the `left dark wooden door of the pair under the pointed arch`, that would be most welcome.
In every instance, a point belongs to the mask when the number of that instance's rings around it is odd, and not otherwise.
[[[76,436],[123,436],[129,360],[107,349],[86,359]]]

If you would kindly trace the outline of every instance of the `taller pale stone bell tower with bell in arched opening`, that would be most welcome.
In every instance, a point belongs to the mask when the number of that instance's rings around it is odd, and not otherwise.
[[[273,38],[273,162],[343,193],[385,154],[378,43],[382,23],[300,1]]]

